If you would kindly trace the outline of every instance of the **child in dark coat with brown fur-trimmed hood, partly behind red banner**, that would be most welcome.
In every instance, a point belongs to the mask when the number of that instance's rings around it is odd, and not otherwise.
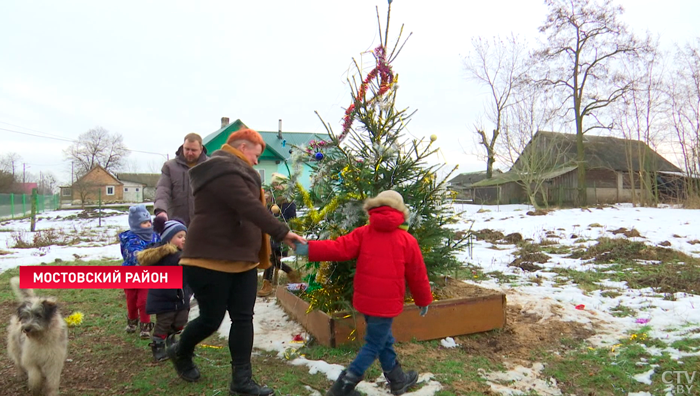
[[[182,248],[185,246],[187,227],[178,220],[165,221],[162,217],[154,220],[154,229],[160,232],[160,243],[138,253],[140,265],[179,265]],[[163,224],[161,224],[163,223]],[[168,358],[165,353],[166,339],[172,341],[175,334],[182,332],[190,313],[191,293],[184,285],[182,289],[150,289],[146,312],[156,315],[153,330],[153,359],[161,362]]]

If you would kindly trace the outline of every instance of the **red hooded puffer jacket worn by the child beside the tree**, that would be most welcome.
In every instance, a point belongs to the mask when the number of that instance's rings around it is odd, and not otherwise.
[[[352,304],[361,313],[393,318],[403,311],[406,281],[420,307],[433,301],[416,239],[399,228],[403,213],[388,206],[369,211],[369,225],[334,241],[309,241],[310,261],[357,259]]]

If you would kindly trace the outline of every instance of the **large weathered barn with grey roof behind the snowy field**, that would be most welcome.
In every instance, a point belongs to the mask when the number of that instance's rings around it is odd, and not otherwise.
[[[576,150],[574,134],[537,132],[508,172],[472,184],[473,200],[480,204],[529,203],[524,183],[537,179],[541,182],[538,199],[544,196],[549,204],[576,206]],[[668,186],[682,170],[644,142],[586,135],[584,158],[589,204],[630,202],[633,194],[649,194],[642,189],[642,178],[653,184],[652,193],[661,198],[677,195]]]

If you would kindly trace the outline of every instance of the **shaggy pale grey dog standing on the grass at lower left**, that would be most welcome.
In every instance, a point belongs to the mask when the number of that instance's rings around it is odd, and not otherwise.
[[[10,280],[20,305],[7,326],[7,352],[18,373],[27,376],[32,395],[58,395],[68,350],[68,329],[53,298],[36,297]]]

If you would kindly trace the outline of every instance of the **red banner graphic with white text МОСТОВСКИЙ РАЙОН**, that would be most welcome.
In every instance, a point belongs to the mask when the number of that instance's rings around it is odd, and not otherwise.
[[[181,289],[182,267],[20,266],[22,289]]]

